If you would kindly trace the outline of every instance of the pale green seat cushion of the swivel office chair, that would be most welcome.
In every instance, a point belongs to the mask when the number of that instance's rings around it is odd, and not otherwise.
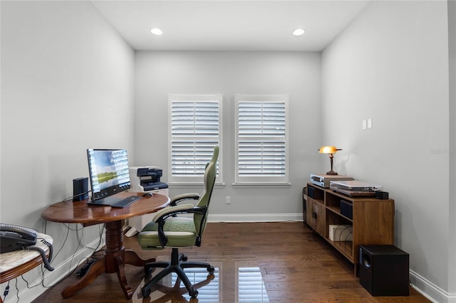
[[[193,218],[167,218],[163,230],[168,239],[167,247],[188,247],[195,244],[197,233]],[[138,234],[138,242],[142,249],[162,248],[158,238],[158,223],[147,223]]]

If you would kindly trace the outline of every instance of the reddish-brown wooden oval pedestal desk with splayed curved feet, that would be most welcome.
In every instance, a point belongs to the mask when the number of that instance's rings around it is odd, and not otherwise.
[[[131,196],[133,193],[118,193],[116,196]],[[123,246],[122,220],[153,213],[170,204],[170,198],[154,193],[152,197],[142,197],[139,201],[125,208],[110,206],[89,206],[87,200],[66,201],[53,204],[46,208],[41,217],[45,220],[60,223],[81,223],[84,226],[104,223],[106,228],[106,249],[102,258],[96,259],[90,265],[86,275],[73,285],[63,289],[62,297],[71,297],[79,290],[89,285],[102,273],[116,272],[127,299],[133,296],[133,289],[125,277],[125,264],[144,266],[155,259],[143,260],[133,250],[125,250]]]

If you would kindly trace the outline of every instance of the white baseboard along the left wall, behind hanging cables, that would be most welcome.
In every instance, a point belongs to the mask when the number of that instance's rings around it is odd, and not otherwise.
[[[104,237],[103,237],[103,241],[104,241]],[[101,243],[102,246],[104,244],[105,244],[104,242]],[[95,239],[95,240],[93,240],[92,243],[90,243],[87,246],[88,247],[98,247],[98,245],[100,245],[100,240]],[[92,255],[92,254],[93,254],[93,249],[85,247],[81,250],[78,250],[78,252],[76,252],[75,255],[72,255],[71,257],[69,257],[67,260],[65,260],[58,266],[54,267],[54,270],[52,272],[49,272],[46,270],[46,272],[44,272],[44,278],[43,278],[44,285],[46,285],[46,286],[56,285],[58,282],[63,280],[63,278],[66,277],[66,275],[68,275],[68,272],[71,272],[76,267],[78,267],[79,260],[90,257],[90,255]],[[36,267],[32,271],[34,271],[34,270],[37,270],[37,271],[39,270],[41,273],[40,267]],[[37,280],[35,280],[33,282],[28,282],[28,285],[37,285],[37,286],[30,288],[30,289],[24,288],[24,289],[19,290],[19,294],[18,294],[19,302],[32,302],[34,299],[36,299],[41,294],[46,292],[46,290],[48,290],[47,287],[43,287],[43,285],[41,284],[41,278],[38,278]],[[13,303],[13,302],[18,301],[18,299],[16,297],[16,293],[14,293],[13,289],[14,289],[14,287],[11,287],[11,286],[9,287],[9,294],[6,297],[6,300],[4,301],[4,303]]]

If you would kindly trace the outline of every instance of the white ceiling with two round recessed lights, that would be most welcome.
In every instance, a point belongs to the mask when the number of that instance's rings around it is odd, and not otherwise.
[[[135,50],[320,51],[368,1],[91,2]],[[306,33],[293,36],[296,28]]]

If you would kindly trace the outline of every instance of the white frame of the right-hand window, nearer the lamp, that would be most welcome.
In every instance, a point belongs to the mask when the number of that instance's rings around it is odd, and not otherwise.
[[[234,186],[283,186],[289,187],[289,95],[242,95],[234,96],[234,112],[236,132],[234,144]],[[284,140],[284,176],[240,176],[239,175],[239,104],[240,102],[279,102],[284,104],[284,136],[264,136],[266,139],[274,137]],[[261,139],[263,136],[259,136]]]

